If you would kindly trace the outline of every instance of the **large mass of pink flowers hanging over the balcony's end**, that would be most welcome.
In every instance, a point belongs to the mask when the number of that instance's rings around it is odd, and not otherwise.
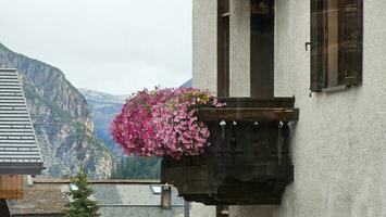
[[[142,90],[133,94],[112,123],[112,136],[126,154],[197,155],[208,145],[199,106],[223,106],[209,91],[194,88]]]

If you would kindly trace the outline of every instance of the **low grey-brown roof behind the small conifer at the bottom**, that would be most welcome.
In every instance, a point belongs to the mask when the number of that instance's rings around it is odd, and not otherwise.
[[[61,214],[70,200],[66,192],[72,182],[67,179],[35,178],[33,187],[25,190],[21,200],[8,200],[12,216],[53,216]],[[101,217],[183,217],[184,200],[172,188],[172,208],[160,206],[161,194],[151,186],[159,182],[130,182],[130,180],[90,181],[92,200],[100,205]],[[49,202],[49,203],[48,203]]]

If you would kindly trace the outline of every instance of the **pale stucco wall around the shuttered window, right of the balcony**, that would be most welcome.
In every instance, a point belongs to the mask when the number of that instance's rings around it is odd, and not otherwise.
[[[386,13],[384,1],[364,1],[363,86],[309,97],[309,0],[278,0],[276,95],[296,95],[295,182],[279,216],[385,216]],[[257,216],[257,215],[253,215]]]

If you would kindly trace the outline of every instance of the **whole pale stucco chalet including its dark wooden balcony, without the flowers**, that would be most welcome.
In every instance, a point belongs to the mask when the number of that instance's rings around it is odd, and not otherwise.
[[[386,216],[386,2],[194,0],[211,146],[162,180],[192,217]],[[224,98],[225,97],[225,98]]]

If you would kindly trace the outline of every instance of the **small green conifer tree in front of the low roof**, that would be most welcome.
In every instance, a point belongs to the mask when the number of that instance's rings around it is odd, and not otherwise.
[[[92,189],[87,181],[87,175],[83,169],[72,179],[76,188],[70,190],[67,195],[72,201],[64,210],[65,217],[98,217],[99,206],[96,201],[89,199]]]

